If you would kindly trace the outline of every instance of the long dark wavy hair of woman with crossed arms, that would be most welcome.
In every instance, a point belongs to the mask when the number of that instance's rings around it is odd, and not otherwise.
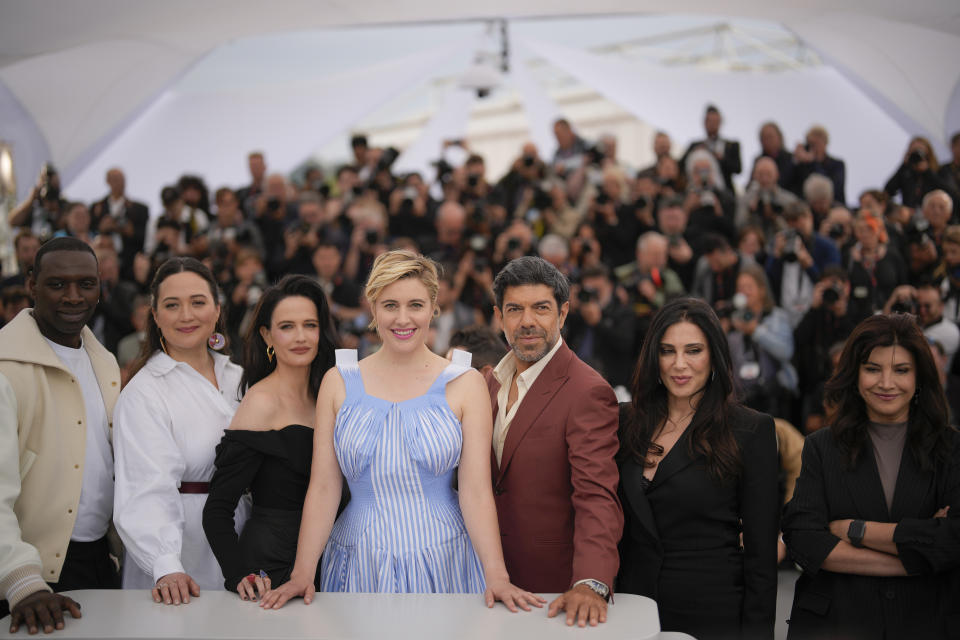
[[[853,467],[867,444],[867,406],[860,395],[860,366],[877,347],[897,345],[913,354],[917,391],[907,418],[907,447],[920,468],[929,471],[950,454],[949,411],[930,345],[913,316],[870,316],[856,326],[824,387],[830,431],[847,464]]]

